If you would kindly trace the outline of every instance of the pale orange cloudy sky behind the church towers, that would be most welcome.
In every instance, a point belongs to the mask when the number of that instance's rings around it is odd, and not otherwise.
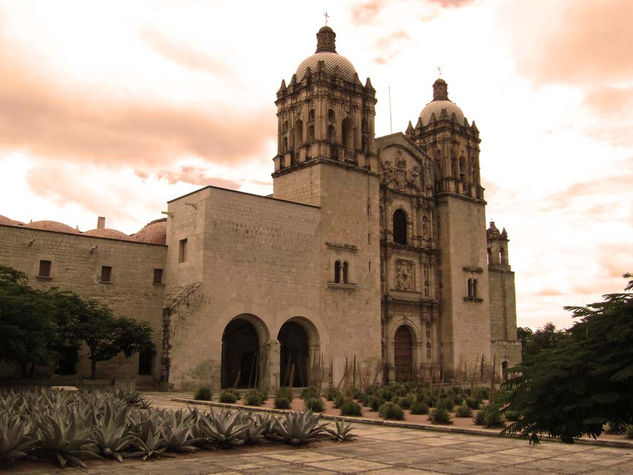
[[[629,0],[0,0],[0,215],[127,233],[212,184],[272,191],[275,92],[337,50],[377,90],[376,131],[414,124],[441,67],[481,133],[519,325],[633,272]]]

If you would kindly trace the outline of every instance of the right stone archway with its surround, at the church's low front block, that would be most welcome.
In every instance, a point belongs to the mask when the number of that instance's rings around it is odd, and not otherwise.
[[[312,384],[311,363],[320,351],[319,335],[314,324],[303,317],[291,318],[281,326],[277,339],[280,345],[280,386],[305,387]]]

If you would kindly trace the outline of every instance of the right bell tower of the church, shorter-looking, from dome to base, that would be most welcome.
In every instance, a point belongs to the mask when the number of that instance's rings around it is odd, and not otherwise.
[[[407,137],[432,160],[440,249],[441,366],[447,378],[491,364],[487,242],[479,131],[449,100],[443,79]]]

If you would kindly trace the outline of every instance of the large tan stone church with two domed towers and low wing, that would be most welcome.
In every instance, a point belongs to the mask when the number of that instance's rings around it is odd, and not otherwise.
[[[0,265],[152,326],[155,354],[99,376],[273,389],[352,373],[465,382],[520,361],[508,235],[486,229],[475,123],[438,79],[415,126],[375,137],[376,91],[335,36],[321,28],[277,91],[272,195],[208,186],[131,236],[102,218],[82,233],[0,217]]]

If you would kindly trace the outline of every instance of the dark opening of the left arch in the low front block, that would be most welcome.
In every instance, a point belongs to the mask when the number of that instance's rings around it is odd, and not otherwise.
[[[260,343],[255,326],[244,318],[232,320],[222,334],[222,387],[257,387]]]

